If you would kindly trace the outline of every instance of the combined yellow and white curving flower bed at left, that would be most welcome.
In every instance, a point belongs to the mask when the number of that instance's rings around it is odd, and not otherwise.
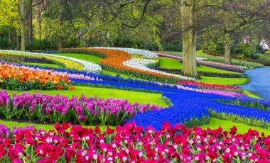
[[[60,62],[65,65],[67,69],[77,69],[85,70],[87,72],[101,72],[102,68],[99,64],[93,62],[88,62],[85,60],[80,60],[72,57],[65,57],[60,55],[52,55],[46,53],[34,53],[34,52],[21,52],[21,51],[12,51],[12,50],[0,50],[0,54],[4,55],[24,55],[29,57],[45,57],[48,60],[54,60],[55,62]]]

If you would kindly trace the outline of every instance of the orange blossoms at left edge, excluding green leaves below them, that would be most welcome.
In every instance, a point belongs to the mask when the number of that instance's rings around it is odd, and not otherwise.
[[[70,82],[68,76],[55,75],[50,71],[0,64],[0,79],[10,78],[18,79],[21,82],[39,80],[41,85],[46,84],[48,81],[51,81],[53,84],[59,84],[60,81]]]

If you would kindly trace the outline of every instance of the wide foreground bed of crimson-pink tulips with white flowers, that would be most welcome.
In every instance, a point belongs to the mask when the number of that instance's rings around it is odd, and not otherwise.
[[[1,128],[0,128],[1,130]],[[3,129],[6,132],[6,128]],[[0,133],[4,133],[1,132]],[[4,162],[269,162],[270,137],[256,130],[236,134],[164,123],[161,130],[135,123],[107,128],[83,128],[68,123],[45,132],[33,127],[13,128],[1,135]]]

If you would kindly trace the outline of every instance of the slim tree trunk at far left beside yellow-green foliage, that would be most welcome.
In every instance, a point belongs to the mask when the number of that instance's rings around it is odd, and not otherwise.
[[[21,0],[21,50],[26,50],[26,31],[25,31],[25,21],[26,21],[26,11],[25,11],[25,0]]]

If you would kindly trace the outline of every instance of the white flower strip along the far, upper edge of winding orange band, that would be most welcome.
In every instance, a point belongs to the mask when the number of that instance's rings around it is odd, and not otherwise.
[[[128,52],[131,55],[141,55],[141,57],[145,57],[148,59],[158,58],[155,52],[151,52],[149,50],[141,50],[141,49],[134,49],[134,48],[126,48],[126,47],[91,47],[91,48],[122,50],[124,52]]]

